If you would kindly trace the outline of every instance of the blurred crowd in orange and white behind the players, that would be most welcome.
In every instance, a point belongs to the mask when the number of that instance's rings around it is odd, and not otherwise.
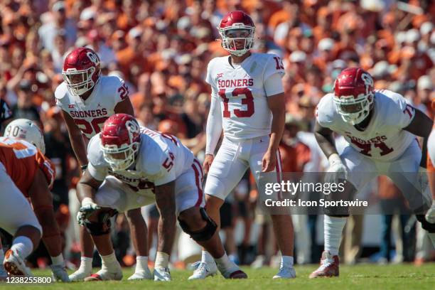
[[[288,163],[288,170],[321,170],[321,153],[309,136],[314,109],[348,66],[360,65],[374,77],[375,88],[399,92],[431,114],[429,104],[435,97],[433,1],[2,0],[0,97],[9,104],[14,118],[32,119],[43,127],[47,155],[58,173],[53,194],[65,235],[73,232],[68,230],[68,223],[73,224],[68,221],[74,199],[70,190],[78,177],[54,98],[55,87],[63,82],[65,55],[80,46],[93,48],[100,55],[102,74],[119,75],[126,81],[139,122],[175,134],[201,158],[210,104],[206,68],[212,58],[227,55],[216,26],[232,10],[246,11],[254,20],[255,51],[275,53],[284,60],[288,114],[282,146],[290,157],[298,156],[296,162]],[[249,239],[249,229],[257,222],[251,183],[247,175],[224,210],[233,215],[226,222],[230,227],[225,232],[227,249],[233,259],[243,258],[245,263],[252,262],[256,253],[264,256],[262,244],[267,242],[263,226],[261,238],[254,239],[258,245]],[[149,216],[152,220],[155,213],[151,210]],[[237,235],[232,231],[237,217],[245,225],[238,239],[239,251],[237,239],[232,238]],[[299,224],[306,226],[308,220],[302,218]],[[122,239],[128,235],[119,233],[127,227],[122,218],[115,225],[119,245],[123,245],[119,247],[125,248],[119,255],[125,258],[129,242]],[[311,222],[299,238],[315,244],[312,227],[315,223]],[[67,238],[66,251],[77,252],[74,239]],[[314,256],[307,254],[299,262],[318,261],[320,251],[314,246]],[[264,256],[264,262],[269,259]],[[129,261],[124,259],[125,264]]]

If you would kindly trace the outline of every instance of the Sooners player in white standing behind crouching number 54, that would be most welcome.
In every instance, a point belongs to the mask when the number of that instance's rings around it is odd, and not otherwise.
[[[104,121],[117,113],[134,114],[124,80],[100,73],[97,53],[90,48],[76,48],[65,58],[62,71],[64,82],[55,90],[56,104],[62,109],[71,145],[82,171],[87,167],[87,143],[101,131]],[[136,271],[129,279],[151,279],[140,268],[148,267],[144,218],[140,209],[129,210],[126,215],[136,249]],[[71,281],[82,281],[92,274],[94,243],[85,227],[80,227],[80,246],[80,268],[70,275]]]

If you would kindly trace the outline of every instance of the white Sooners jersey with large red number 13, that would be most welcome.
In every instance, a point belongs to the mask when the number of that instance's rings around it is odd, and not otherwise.
[[[205,80],[220,102],[225,136],[252,139],[270,134],[272,112],[264,80],[275,73],[284,76],[281,59],[271,53],[252,53],[242,63],[230,65],[229,58],[210,60]]]

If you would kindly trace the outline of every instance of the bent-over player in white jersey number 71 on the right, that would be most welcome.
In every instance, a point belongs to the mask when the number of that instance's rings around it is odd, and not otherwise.
[[[427,138],[431,127],[431,119],[401,95],[374,90],[372,77],[365,70],[343,70],[335,80],[334,92],[321,99],[316,111],[315,135],[330,163],[328,181],[337,183],[345,178],[349,181],[345,192],[351,197],[372,178],[390,177],[435,243],[435,224],[421,214],[428,210],[431,197],[419,178],[419,167],[425,159],[416,139]],[[340,155],[333,132],[348,141]],[[334,194],[326,196],[340,198]],[[321,267],[310,278],[339,274],[338,247],[348,208],[325,208],[325,213],[325,250]]]

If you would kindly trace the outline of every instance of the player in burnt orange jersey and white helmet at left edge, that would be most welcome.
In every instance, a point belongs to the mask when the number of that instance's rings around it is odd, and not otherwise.
[[[14,120],[6,127],[5,136],[0,137],[0,227],[14,235],[3,264],[9,274],[32,276],[24,259],[38,247],[42,231],[53,278],[68,282],[49,189],[55,168],[44,153],[41,130],[28,119]]]

